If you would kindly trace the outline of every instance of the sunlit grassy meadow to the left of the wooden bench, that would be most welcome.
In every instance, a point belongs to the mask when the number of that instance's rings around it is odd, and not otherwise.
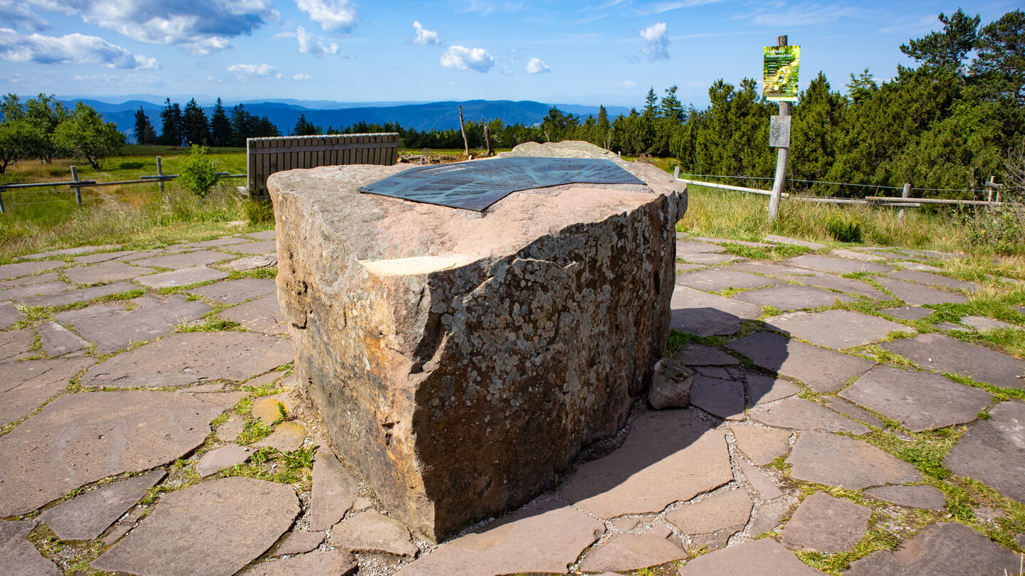
[[[175,174],[187,154],[180,147],[126,146],[98,170],[70,159],[51,164],[24,161],[8,166],[0,183],[67,181],[72,165],[84,180],[137,179],[157,173],[157,156],[162,157],[164,173]],[[210,157],[219,172],[246,171],[245,149],[212,149]],[[0,215],[0,263],[56,248],[120,244],[147,249],[273,229],[268,210],[235,193],[243,182],[221,180],[205,199],[174,181],[165,183],[163,197],[157,183],[85,188],[81,207],[69,187],[7,190],[6,212]]]

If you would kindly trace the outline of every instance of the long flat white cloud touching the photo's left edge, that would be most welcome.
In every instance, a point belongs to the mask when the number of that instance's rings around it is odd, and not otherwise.
[[[157,69],[157,58],[137,56],[98,36],[19,34],[0,28],[0,58],[38,64],[77,64],[106,68]]]

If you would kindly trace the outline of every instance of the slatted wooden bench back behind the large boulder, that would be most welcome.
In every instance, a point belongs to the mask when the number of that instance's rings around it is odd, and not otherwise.
[[[328,134],[275,136],[246,140],[247,187],[250,198],[266,198],[266,177],[293,168],[383,164],[399,161],[399,134]]]

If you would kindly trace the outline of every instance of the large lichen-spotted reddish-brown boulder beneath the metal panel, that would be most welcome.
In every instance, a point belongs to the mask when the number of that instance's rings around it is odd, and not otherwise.
[[[300,389],[429,539],[529,500],[621,428],[668,337],[683,184],[584,142],[508,154],[606,158],[647,184],[518,192],[479,213],[357,192],[404,166],[268,180]]]

